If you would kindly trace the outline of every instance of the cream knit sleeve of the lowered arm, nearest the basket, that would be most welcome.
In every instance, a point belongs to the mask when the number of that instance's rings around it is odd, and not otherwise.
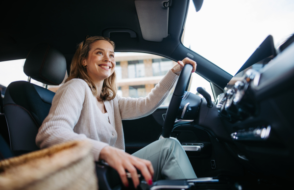
[[[87,87],[85,81],[72,79],[58,89],[49,114],[36,136],[38,147],[46,148],[66,141],[88,139],[93,145],[95,160],[98,161],[101,149],[108,144],[73,132],[83,108]]]

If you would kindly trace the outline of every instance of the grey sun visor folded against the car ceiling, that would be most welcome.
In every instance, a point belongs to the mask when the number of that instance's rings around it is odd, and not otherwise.
[[[135,0],[143,38],[161,42],[168,36],[171,0]]]

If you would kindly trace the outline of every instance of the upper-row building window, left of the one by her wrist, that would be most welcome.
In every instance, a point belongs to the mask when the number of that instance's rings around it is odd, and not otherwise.
[[[128,78],[145,77],[145,65],[143,60],[128,61]]]

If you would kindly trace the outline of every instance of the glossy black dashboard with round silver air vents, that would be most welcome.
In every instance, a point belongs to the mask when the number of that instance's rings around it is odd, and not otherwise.
[[[252,65],[228,83],[216,101],[218,128],[227,133],[210,130],[251,170],[289,178],[294,169],[293,98],[294,43],[262,68]]]

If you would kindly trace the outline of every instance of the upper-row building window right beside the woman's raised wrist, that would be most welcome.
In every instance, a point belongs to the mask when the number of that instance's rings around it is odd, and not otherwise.
[[[162,76],[173,67],[173,61],[168,58],[152,59],[153,76]]]

